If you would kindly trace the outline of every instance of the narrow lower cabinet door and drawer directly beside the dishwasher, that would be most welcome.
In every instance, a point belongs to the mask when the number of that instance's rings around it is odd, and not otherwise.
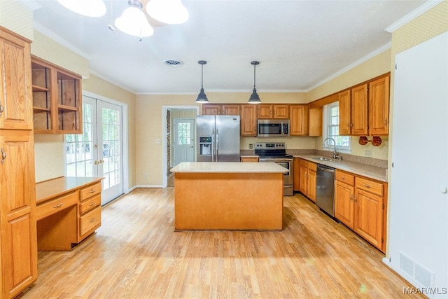
[[[335,218],[352,230],[355,225],[354,176],[336,169],[335,172]]]

